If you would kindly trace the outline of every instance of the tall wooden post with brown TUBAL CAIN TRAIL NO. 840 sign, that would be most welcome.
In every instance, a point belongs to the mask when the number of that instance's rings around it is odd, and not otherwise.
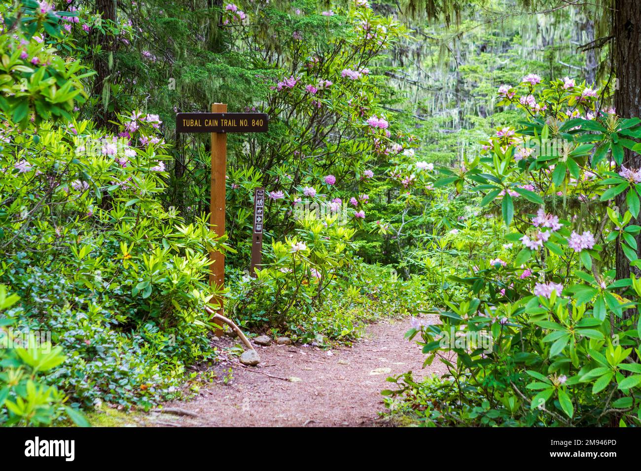
[[[224,103],[212,104],[211,113],[178,113],[176,115],[177,133],[212,133],[212,186],[209,222],[210,229],[212,231],[215,230],[218,235],[225,233],[227,133],[264,133],[265,131],[267,131],[266,113],[228,113],[227,104]],[[252,238],[252,242],[253,240]],[[210,252],[210,258],[212,260],[212,272],[209,276],[209,283],[222,288],[225,284],[224,253],[219,251]],[[252,260],[254,260],[253,248]],[[260,263],[260,258],[258,263]],[[220,315],[224,315],[222,298],[214,299],[213,302],[219,305],[217,312]],[[220,333],[220,330],[216,331],[217,335],[220,335]]]

